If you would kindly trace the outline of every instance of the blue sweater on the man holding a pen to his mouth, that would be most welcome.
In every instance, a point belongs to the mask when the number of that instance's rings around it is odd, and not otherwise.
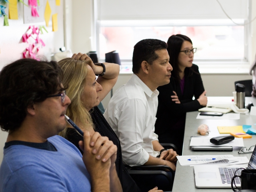
[[[90,175],[79,150],[68,140],[53,136],[57,151],[25,145],[4,148],[0,192],[90,192]]]

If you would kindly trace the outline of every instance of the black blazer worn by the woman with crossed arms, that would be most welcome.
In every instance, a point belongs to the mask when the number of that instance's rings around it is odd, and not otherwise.
[[[171,134],[171,130],[175,130],[175,124],[181,117],[184,118],[186,116],[186,112],[196,111],[202,108],[197,100],[204,92],[204,85],[198,66],[193,64],[191,69],[185,68],[184,73],[185,84],[183,95],[181,94],[180,84],[172,76],[169,84],[157,88],[159,96],[155,132],[159,138],[164,134]],[[171,96],[174,95],[172,91],[177,93],[180,104],[172,101]],[[192,100],[193,96],[195,100]]]

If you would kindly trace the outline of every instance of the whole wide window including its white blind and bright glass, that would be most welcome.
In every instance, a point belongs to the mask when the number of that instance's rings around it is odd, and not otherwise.
[[[121,63],[131,64],[138,41],[167,42],[172,34],[183,34],[197,48],[195,62],[248,63],[251,27],[245,23],[250,4],[250,0],[98,0],[97,51],[104,60],[105,53],[117,50]]]

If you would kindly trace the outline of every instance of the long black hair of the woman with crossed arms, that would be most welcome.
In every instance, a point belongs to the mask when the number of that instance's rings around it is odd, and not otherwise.
[[[192,44],[191,39],[182,34],[172,35],[169,37],[169,39],[167,41],[167,44],[168,44],[167,51],[170,56],[170,64],[172,65],[172,68],[173,68],[172,78],[174,78],[174,80],[176,82],[178,82],[178,84],[180,83],[179,72],[181,72],[179,65],[178,65],[178,56],[180,54],[180,49],[181,49],[184,41],[188,41]],[[192,75],[193,72],[194,71],[190,67],[189,76]]]

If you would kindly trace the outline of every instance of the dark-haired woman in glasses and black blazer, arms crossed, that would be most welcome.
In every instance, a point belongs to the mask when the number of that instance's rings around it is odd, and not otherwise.
[[[170,83],[157,88],[155,132],[160,143],[175,144],[181,154],[186,112],[206,106],[207,97],[198,66],[192,64],[196,48],[190,38],[182,34],[172,35],[167,44],[173,70]],[[192,100],[193,96],[195,100]]]

